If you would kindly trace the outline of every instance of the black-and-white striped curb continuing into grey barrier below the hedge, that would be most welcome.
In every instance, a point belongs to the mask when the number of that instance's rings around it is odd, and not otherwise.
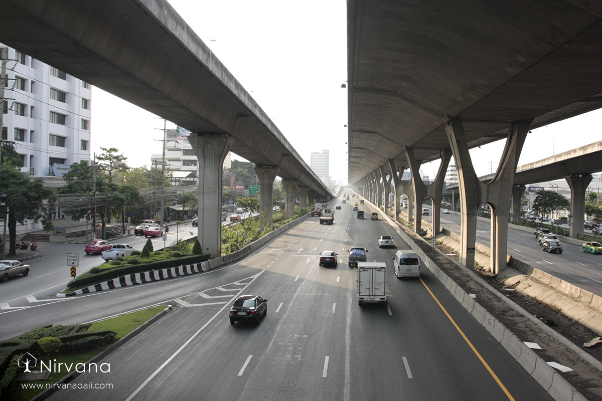
[[[310,215],[308,213],[305,216],[301,216],[300,218],[298,218],[296,220],[288,222],[287,224],[283,225],[282,227],[276,228],[276,230],[272,231],[271,233],[265,234],[264,236],[262,236],[255,242],[252,242],[249,245],[245,246],[243,249],[239,249],[238,251],[231,253],[231,254],[216,257],[216,259],[206,260],[205,262],[196,263],[194,265],[179,266],[179,267],[169,268],[169,269],[153,270],[153,271],[148,271],[148,272],[127,274],[125,276],[117,277],[117,278],[114,278],[113,280],[105,281],[104,283],[100,283],[100,284],[95,284],[94,286],[85,287],[80,290],[75,290],[70,293],[66,293],[66,294],[59,293],[59,294],[57,294],[57,296],[65,297],[65,296],[82,295],[82,294],[87,294],[87,293],[91,293],[91,292],[111,290],[111,289],[120,288],[120,287],[135,286],[136,284],[151,283],[152,281],[167,280],[168,278],[181,277],[181,276],[185,276],[185,275],[197,274],[197,273],[213,270],[213,269],[219,268],[220,266],[228,265],[228,263],[236,262],[237,260],[242,259],[243,257],[249,255],[253,251],[256,251],[257,249],[264,246],[265,243],[267,243],[268,241],[274,239],[275,237],[279,236],[280,234],[284,233],[285,231],[290,230],[297,224],[305,221],[306,219],[309,218],[309,216]]]

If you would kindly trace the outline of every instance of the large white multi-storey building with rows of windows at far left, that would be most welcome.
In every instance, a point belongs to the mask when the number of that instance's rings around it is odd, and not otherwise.
[[[23,171],[60,187],[74,162],[90,161],[90,85],[0,43],[1,139]]]

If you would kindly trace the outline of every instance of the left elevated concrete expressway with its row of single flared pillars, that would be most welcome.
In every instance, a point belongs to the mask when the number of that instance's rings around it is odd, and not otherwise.
[[[273,121],[165,0],[2,1],[0,42],[193,132],[190,143],[199,159],[199,241],[208,253],[221,254],[222,164],[228,151],[257,166],[261,207],[270,221],[277,175],[283,179],[287,215],[293,215],[297,186],[303,207],[308,195],[310,202],[332,198]]]

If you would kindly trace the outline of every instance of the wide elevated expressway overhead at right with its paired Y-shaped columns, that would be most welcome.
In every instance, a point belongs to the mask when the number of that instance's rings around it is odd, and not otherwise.
[[[488,203],[497,272],[506,264],[507,215],[527,133],[602,107],[602,4],[350,0],[347,44],[349,182],[377,204],[393,182],[399,213],[407,191],[399,174],[409,167],[412,197],[433,198],[438,230],[453,155],[461,261],[474,263],[477,209]],[[504,138],[497,171],[480,182],[468,150]],[[435,183],[424,186],[418,168],[439,158]],[[584,194],[589,180],[569,172]],[[421,231],[418,208],[414,221]]]

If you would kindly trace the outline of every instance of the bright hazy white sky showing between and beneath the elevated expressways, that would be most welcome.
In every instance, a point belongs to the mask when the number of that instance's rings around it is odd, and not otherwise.
[[[309,165],[330,150],[330,176],[347,179],[346,1],[171,0]],[[519,165],[602,139],[600,111],[527,137]],[[175,127],[168,123],[168,128]],[[130,167],[161,153],[163,120],[98,88],[92,92],[92,149],[117,147]],[[157,140],[154,140],[157,139]],[[497,168],[502,141],[471,151],[479,176]],[[434,177],[439,162],[423,166]]]

